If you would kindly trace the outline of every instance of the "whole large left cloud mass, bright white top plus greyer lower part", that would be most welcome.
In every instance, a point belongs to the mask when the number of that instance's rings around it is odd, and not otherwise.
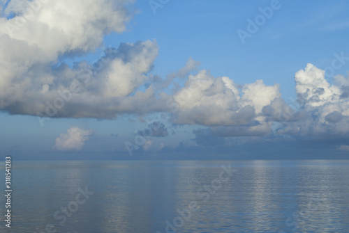
[[[156,111],[147,73],[158,54],[156,41],[121,43],[94,64],[65,63],[93,52],[107,33],[122,33],[133,13],[127,0],[20,1],[0,18],[0,110],[52,118],[108,118]],[[26,12],[36,6],[30,19]],[[26,11],[27,10],[27,11]],[[24,24],[17,26],[18,22]]]

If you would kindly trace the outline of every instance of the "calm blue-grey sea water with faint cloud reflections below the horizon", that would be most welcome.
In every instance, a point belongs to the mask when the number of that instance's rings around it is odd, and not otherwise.
[[[13,161],[12,182],[0,232],[349,232],[349,161]]]

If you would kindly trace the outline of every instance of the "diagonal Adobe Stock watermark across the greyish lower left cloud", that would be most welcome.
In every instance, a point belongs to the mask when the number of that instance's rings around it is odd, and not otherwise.
[[[52,102],[45,102],[45,111],[36,113],[38,122],[41,127],[44,127],[45,120],[50,120],[59,113],[59,110],[63,109],[66,102],[70,102],[73,99],[73,95],[77,94],[82,86],[87,86],[93,79],[94,72],[100,71],[106,63],[109,63],[116,56],[116,49],[112,47],[102,48],[100,58],[94,61],[92,66],[84,65],[77,71],[75,79],[70,83],[70,86],[64,90],[58,90],[59,96],[53,99]]]

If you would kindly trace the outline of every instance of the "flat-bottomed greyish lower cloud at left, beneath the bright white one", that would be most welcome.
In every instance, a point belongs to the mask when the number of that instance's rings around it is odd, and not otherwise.
[[[73,69],[63,64],[51,73],[40,69],[29,72],[32,77],[12,94],[11,88],[0,94],[5,100],[0,108],[13,114],[54,118],[114,118],[117,113],[140,113],[144,107],[145,111],[157,109],[151,104],[156,102],[151,87],[133,93],[147,81],[143,73],[150,70],[156,58],[156,42],[121,44],[114,54],[110,61],[101,63],[101,70],[80,63]],[[40,77],[51,79],[34,86],[33,81]]]

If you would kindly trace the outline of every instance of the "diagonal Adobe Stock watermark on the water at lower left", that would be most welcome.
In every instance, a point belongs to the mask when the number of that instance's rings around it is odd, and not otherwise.
[[[52,214],[54,220],[61,220],[59,224],[47,224],[45,226],[45,230],[40,230],[40,232],[33,232],[33,233],[52,233],[52,232],[61,232],[57,230],[57,226],[64,227],[66,225],[67,218],[70,218],[73,216],[73,214],[79,209],[79,206],[81,204],[84,204],[89,200],[91,195],[94,195],[94,192],[88,191],[87,186],[84,187],[84,190],[82,188],[77,188],[77,195],[75,195],[75,199],[73,201],[68,202],[68,204],[64,207],[60,207],[57,209],[57,211],[54,211]],[[66,231],[65,231],[66,232]]]

